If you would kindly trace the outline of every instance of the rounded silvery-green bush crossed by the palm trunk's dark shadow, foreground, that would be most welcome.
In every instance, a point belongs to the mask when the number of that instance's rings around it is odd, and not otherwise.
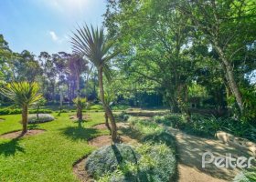
[[[131,162],[136,164],[139,156],[132,147],[124,144],[101,147],[87,159],[85,168],[89,175],[100,177],[113,172],[119,165]]]

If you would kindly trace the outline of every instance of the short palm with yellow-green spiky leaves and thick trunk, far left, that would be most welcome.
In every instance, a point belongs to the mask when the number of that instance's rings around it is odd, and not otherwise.
[[[38,91],[39,86],[34,82],[14,82],[0,88],[1,94],[13,100],[17,106],[22,108],[22,134],[27,132],[28,106],[36,104],[42,98]]]

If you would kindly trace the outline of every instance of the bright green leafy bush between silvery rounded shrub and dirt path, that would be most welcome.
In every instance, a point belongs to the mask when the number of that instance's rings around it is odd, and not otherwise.
[[[136,147],[140,155],[137,164],[127,162],[119,165],[112,173],[100,177],[101,182],[168,182],[176,178],[176,157],[165,144],[146,143]]]

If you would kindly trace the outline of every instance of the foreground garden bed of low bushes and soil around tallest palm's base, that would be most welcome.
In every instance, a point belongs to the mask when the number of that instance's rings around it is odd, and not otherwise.
[[[80,158],[73,165],[76,177],[82,182],[95,179],[99,181],[148,181],[152,178],[155,179],[154,181],[175,181],[176,148],[174,147],[174,138],[169,136],[162,126],[148,124],[146,121],[139,122],[138,125],[134,125],[135,123],[130,123],[133,126],[128,129],[139,131],[142,127],[146,128],[142,130],[142,137],[130,137],[123,132],[120,142],[112,146],[110,146],[112,144],[111,136],[97,136],[89,140],[90,146],[100,148],[90,156]],[[125,131],[128,125],[119,123],[119,126]],[[104,124],[96,127],[106,128]],[[149,130],[149,132],[144,133],[145,130]],[[135,163],[130,158],[133,157],[132,154],[137,156]],[[118,157],[121,157],[121,162]],[[115,164],[116,160],[119,161],[117,164]]]

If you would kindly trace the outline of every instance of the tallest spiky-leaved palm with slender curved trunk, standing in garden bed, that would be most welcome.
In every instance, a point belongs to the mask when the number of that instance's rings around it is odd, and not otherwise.
[[[102,28],[93,28],[91,25],[90,29],[88,25],[85,25],[76,29],[76,32],[73,33],[71,44],[76,54],[85,56],[98,69],[101,103],[105,113],[110,118],[112,141],[115,142],[117,139],[117,128],[112,110],[105,102],[103,87],[103,72],[107,78],[110,78],[110,66],[108,63],[114,56],[117,56],[117,53],[111,53],[113,41],[104,36]]]

